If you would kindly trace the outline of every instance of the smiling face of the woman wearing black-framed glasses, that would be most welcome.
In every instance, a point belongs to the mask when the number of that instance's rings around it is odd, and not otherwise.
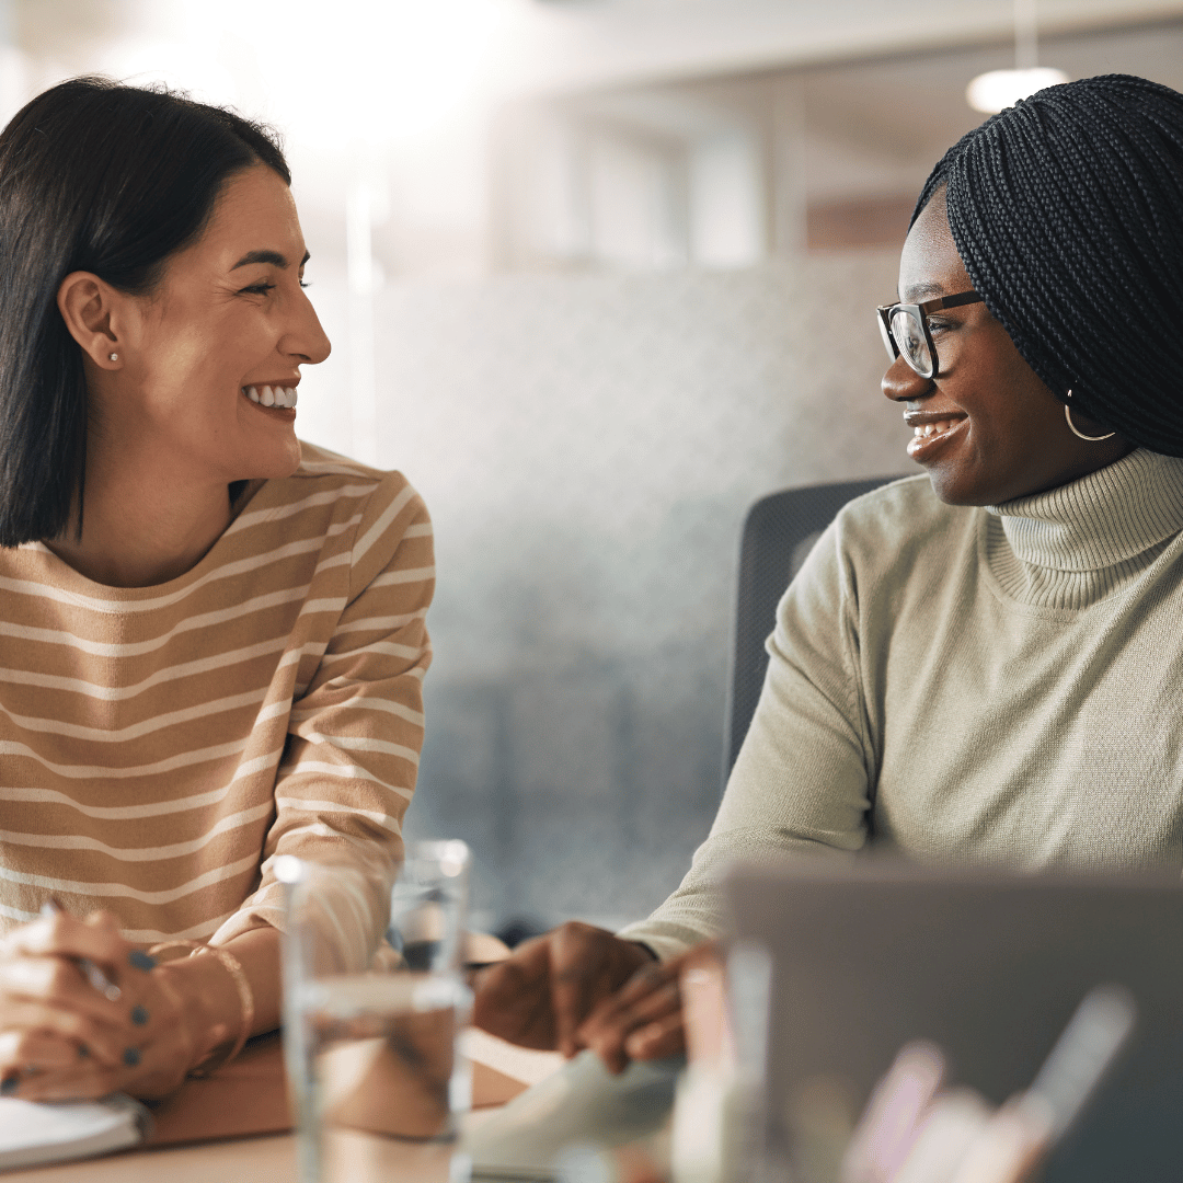
[[[972,289],[957,253],[944,194],[917,218],[899,264],[899,298],[922,303]],[[883,392],[903,405],[913,434],[909,455],[929,471],[936,494],[951,505],[1000,505],[1077,480],[1112,464],[1133,445],[1114,435],[1078,439],[1064,403],[1023,361],[1007,330],[984,304],[929,315],[937,347],[936,377],[923,379],[897,357]],[[1104,428],[1073,412],[1090,435]]]

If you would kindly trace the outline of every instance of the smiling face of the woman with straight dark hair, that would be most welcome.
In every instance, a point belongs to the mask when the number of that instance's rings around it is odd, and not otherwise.
[[[284,181],[261,164],[232,176],[198,241],[119,317],[123,362],[95,392],[101,441],[179,481],[295,471],[296,411],[264,403],[293,402],[300,366],[329,355],[302,287],[306,258]]]

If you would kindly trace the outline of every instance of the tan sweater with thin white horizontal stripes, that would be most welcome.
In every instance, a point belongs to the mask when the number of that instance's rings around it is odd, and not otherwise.
[[[297,854],[361,872],[327,906],[368,957],[415,783],[433,575],[407,481],[309,445],[170,582],[0,550],[5,926],[53,894],[134,942],[224,942],[282,926],[271,862]]]

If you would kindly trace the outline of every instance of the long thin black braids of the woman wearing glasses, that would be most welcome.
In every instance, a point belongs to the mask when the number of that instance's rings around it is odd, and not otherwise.
[[[913,222],[942,188],[975,290],[1053,394],[1183,455],[1183,95],[1041,90],[945,153]]]

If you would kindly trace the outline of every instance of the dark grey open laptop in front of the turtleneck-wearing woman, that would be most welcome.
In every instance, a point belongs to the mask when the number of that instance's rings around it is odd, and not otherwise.
[[[1001,1103],[1032,1082],[1081,998],[1116,983],[1133,994],[1137,1028],[1045,1181],[1183,1179],[1178,874],[799,860],[738,868],[725,892],[735,937],[770,955],[763,1069],[772,1161],[800,1161],[810,1121],[840,1125],[843,1110],[856,1117],[910,1040],[938,1043],[952,1082]],[[829,1183],[819,1170],[813,1153],[797,1174]]]

